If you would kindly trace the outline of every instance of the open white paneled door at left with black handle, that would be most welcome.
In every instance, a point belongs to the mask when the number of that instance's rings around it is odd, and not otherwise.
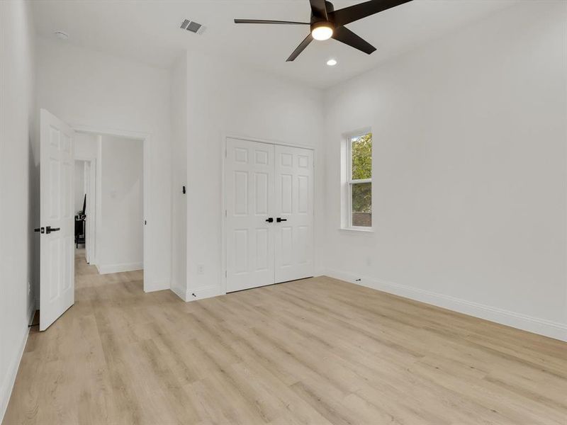
[[[74,303],[74,131],[40,113],[40,331]]]

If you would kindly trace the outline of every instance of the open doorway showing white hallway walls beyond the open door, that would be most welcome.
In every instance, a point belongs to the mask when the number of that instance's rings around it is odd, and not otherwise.
[[[79,260],[96,266],[99,274],[143,270],[143,140],[77,132],[75,148]]]

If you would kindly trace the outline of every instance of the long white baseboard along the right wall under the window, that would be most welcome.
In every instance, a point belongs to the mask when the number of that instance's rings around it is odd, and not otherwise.
[[[567,324],[551,322],[551,320],[540,319],[539,317],[528,316],[516,312],[510,312],[497,307],[478,304],[461,300],[460,298],[442,295],[428,290],[412,288],[408,285],[400,285],[399,283],[386,282],[379,279],[368,278],[364,276],[354,275],[336,270],[327,270],[327,276],[345,280],[357,285],[366,286],[386,293],[400,295],[400,297],[409,298],[410,300],[425,302],[427,304],[443,307],[447,310],[468,314],[469,316],[478,317],[480,319],[490,320],[499,324],[505,324],[510,327],[522,329],[524,331],[533,332],[549,336],[550,338],[560,341],[567,341]],[[360,279],[357,281],[357,279]]]

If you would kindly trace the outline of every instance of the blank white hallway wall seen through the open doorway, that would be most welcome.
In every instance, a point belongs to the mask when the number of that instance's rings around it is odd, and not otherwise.
[[[142,140],[101,137],[101,216],[96,229],[101,273],[143,268]]]

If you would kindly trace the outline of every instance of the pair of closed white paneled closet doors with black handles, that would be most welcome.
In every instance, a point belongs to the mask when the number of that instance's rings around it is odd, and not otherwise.
[[[227,138],[226,291],[313,276],[313,150]]]

